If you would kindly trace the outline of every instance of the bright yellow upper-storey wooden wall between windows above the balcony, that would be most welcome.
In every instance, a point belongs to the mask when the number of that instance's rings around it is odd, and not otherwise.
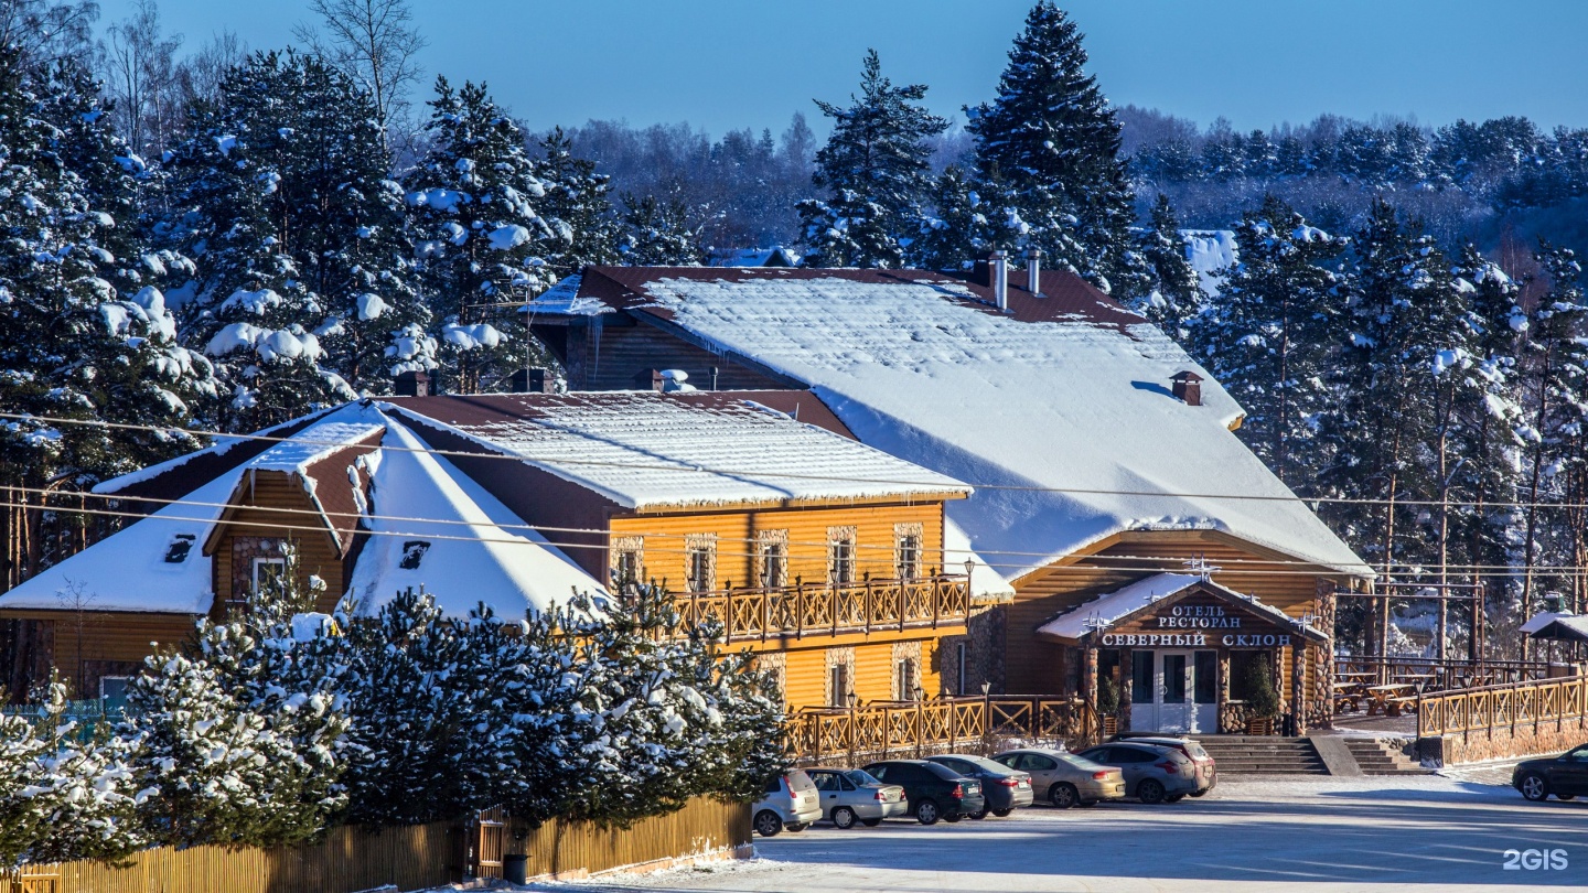
[[[788,531],[788,582],[827,580],[827,528],[856,528],[856,578],[894,575],[894,524],[919,523],[923,569],[931,574],[943,562],[943,504],[853,505],[823,508],[762,508],[748,512],[697,512],[676,515],[629,515],[611,520],[613,537],[645,539],[645,575],[667,580],[673,590],[684,582],[684,543],[689,534],[716,534],[716,585],[748,586],[751,555],[761,531]]]

